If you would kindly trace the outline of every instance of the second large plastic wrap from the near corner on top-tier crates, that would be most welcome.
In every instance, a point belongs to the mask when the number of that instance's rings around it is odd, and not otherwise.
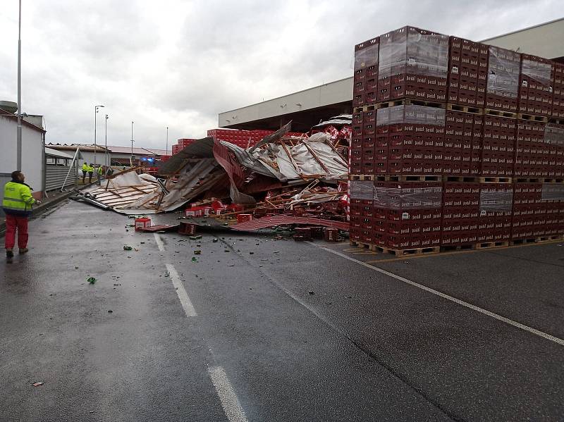
[[[519,53],[489,46],[488,94],[517,98],[519,72]]]

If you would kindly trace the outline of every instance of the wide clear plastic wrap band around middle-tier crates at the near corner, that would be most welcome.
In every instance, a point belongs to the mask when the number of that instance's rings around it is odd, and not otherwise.
[[[397,123],[444,126],[445,120],[444,108],[408,105],[385,107],[376,111],[376,126]]]

